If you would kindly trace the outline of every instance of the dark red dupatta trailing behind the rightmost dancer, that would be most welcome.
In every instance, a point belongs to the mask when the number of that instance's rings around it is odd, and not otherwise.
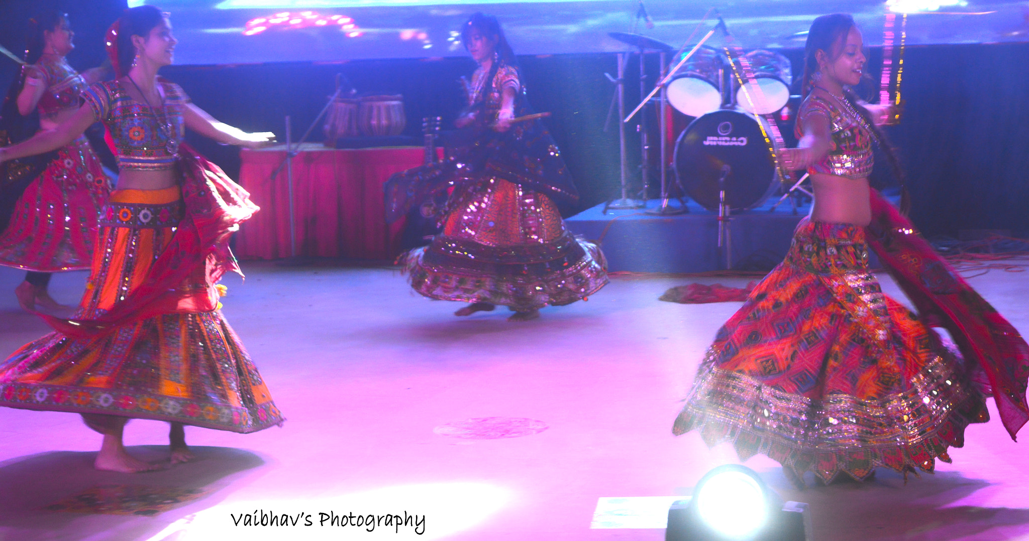
[[[1004,428],[1016,434],[1029,421],[1026,382],[1029,345],[918,235],[915,226],[872,191],[868,245],[915,303],[923,320],[946,328],[968,362],[990,378]]]

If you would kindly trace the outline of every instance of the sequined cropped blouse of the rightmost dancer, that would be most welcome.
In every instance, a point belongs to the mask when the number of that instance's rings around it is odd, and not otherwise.
[[[809,173],[824,173],[852,179],[866,178],[875,165],[872,134],[859,118],[845,113],[830,100],[810,95],[801,104],[796,117],[796,137],[804,136],[804,125],[811,116],[821,115],[829,120],[832,145],[824,159],[808,169]]]

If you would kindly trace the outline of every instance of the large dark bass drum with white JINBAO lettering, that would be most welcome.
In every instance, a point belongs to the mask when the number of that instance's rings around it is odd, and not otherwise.
[[[675,176],[686,194],[709,211],[718,210],[722,167],[725,201],[732,210],[752,209],[775,191],[777,173],[757,120],[721,110],[689,123],[675,143]]]

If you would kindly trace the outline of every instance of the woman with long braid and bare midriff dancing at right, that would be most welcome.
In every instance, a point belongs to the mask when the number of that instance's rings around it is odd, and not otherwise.
[[[868,186],[872,143],[883,142],[874,119],[894,111],[848,89],[864,68],[861,46],[850,15],[811,26],[801,145],[784,152],[811,174],[811,216],[718,331],[674,426],[699,429],[709,445],[732,441],[741,460],[765,454],[802,486],[808,470],[824,482],[877,467],[933,471],[969,423],[988,421],[984,393],[1013,438],[1029,419],[1025,340]],[[882,293],[870,246],[918,315]],[[929,325],[946,327],[961,354]]]

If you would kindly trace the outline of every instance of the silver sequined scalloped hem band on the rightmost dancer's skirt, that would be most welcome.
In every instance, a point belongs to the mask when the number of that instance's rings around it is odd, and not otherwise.
[[[989,421],[983,397],[938,356],[904,393],[880,400],[829,395],[819,404],[713,368],[715,355],[709,350],[701,363],[673,433],[699,429],[708,446],[731,441],[741,461],[766,455],[797,476],[813,471],[831,481],[846,472],[863,479],[877,467],[931,473],[935,459],[950,462],[949,446],[964,444],[967,425]]]

